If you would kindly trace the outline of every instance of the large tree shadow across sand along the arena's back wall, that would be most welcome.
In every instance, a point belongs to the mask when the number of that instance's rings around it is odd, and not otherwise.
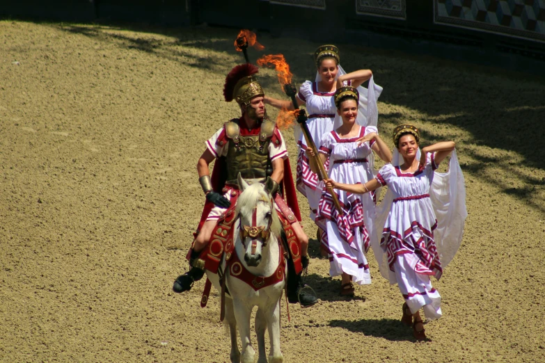
[[[48,25],[198,67],[222,78],[233,65],[244,62],[233,45],[238,29],[166,28],[108,22]],[[154,38],[154,34],[171,38]],[[312,54],[319,44],[273,38],[263,32],[258,34],[258,41],[265,49],[260,52],[248,49],[252,62],[265,54],[283,54],[294,74],[294,83],[315,78]],[[398,51],[339,46],[345,70],[369,68],[374,81],[384,87],[379,102],[381,109],[388,111],[379,115],[381,132],[388,135],[395,125],[411,122],[423,131],[422,146],[455,140],[464,172],[498,186],[502,193],[515,195],[545,213],[545,149],[539,147],[545,134],[545,122],[542,122],[545,106],[540,97],[545,93],[544,79]],[[262,70],[260,74],[264,88],[274,97],[283,97],[278,93],[275,73]],[[386,140],[390,142],[389,138]],[[508,174],[507,179],[498,177],[501,171],[487,174],[480,170],[486,166],[482,159],[497,152],[516,158],[516,166],[509,157],[496,163],[496,168]],[[535,170],[539,178],[528,185],[528,177],[521,168]]]

